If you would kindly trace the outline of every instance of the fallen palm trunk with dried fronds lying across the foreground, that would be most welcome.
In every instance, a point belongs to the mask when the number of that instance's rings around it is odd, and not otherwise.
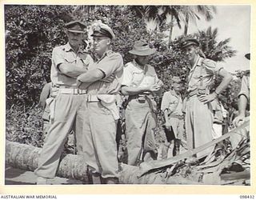
[[[234,141],[236,141],[233,143],[235,147],[233,146],[233,151],[225,156],[225,158],[217,158],[215,156],[213,157],[214,159],[210,159],[206,163],[202,162],[201,166],[200,163],[191,166],[191,164],[184,162],[185,158],[190,158],[190,156],[196,154],[198,150],[205,148],[201,146],[198,147],[198,149],[191,150],[187,154],[181,154],[162,161],[153,161],[153,164],[151,162],[142,162],[141,166],[128,166],[121,163],[120,166],[122,170],[120,171],[119,181],[122,184],[231,184],[230,182],[223,182],[221,179],[230,180],[229,175],[224,174],[222,177],[220,175],[224,168],[238,161],[240,161],[238,163],[249,162],[247,168],[250,168],[250,144],[248,143],[248,145],[246,145],[241,141],[246,141],[246,138],[249,138],[247,135],[248,131],[249,122],[246,122],[244,125],[238,127],[238,129],[223,135],[222,138],[218,138],[206,144],[206,146],[211,146],[226,138],[234,138]],[[238,138],[240,142],[238,142],[236,135],[239,135]],[[34,146],[6,141],[6,164],[19,169],[34,171],[38,166],[38,157],[41,150],[41,148]],[[250,174],[248,173],[250,173],[250,170],[248,169],[244,173],[232,174],[232,177],[243,178],[246,179],[246,181],[231,181],[236,184],[246,182],[246,184],[249,185],[250,182],[248,182],[248,178],[250,178]],[[62,155],[57,176],[62,178],[74,178],[87,183],[89,182],[89,178],[86,175],[86,170],[86,162],[81,155],[66,154]]]

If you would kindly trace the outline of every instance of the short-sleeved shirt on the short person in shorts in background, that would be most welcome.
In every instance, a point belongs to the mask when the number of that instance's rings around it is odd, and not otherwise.
[[[169,114],[182,115],[182,97],[174,90],[167,91],[162,96],[161,110],[166,109]]]

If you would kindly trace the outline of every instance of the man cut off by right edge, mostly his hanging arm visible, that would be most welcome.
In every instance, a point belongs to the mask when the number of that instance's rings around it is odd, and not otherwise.
[[[250,60],[250,54],[246,54],[245,57]],[[244,75],[238,94],[238,116],[234,118],[234,126],[241,126],[245,122],[247,104],[250,104],[250,76]]]

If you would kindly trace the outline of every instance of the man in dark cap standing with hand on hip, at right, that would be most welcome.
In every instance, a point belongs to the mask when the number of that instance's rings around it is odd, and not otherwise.
[[[186,91],[185,124],[187,146],[191,150],[213,140],[214,116],[211,102],[226,89],[232,76],[223,67],[217,66],[214,61],[200,56],[199,42],[196,39],[185,39],[181,48],[190,67]],[[222,82],[214,92],[210,93],[214,75],[222,77]],[[197,154],[198,158],[206,156],[211,150],[212,147],[202,150]]]

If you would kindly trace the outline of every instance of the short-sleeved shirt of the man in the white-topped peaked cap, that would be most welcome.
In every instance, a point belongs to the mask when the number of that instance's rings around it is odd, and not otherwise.
[[[87,94],[118,94],[121,88],[123,74],[121,54],[108,50],[102,58],[100,58],[98,62],[94,62],[89,69],[101,70],[105,74],[104,78],[109,78],[114,74],[114,80],[112,82],[102,82],[102,80],[93,82],[88,87]]]

